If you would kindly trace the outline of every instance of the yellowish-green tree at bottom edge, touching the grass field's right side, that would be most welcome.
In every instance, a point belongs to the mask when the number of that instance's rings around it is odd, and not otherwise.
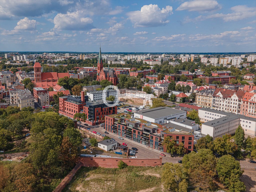
[[[173,192],[186,192],[188,183],[183,177],[181,166],[178,164],[165,163],[161,173],[161,181],[164,189]]]

